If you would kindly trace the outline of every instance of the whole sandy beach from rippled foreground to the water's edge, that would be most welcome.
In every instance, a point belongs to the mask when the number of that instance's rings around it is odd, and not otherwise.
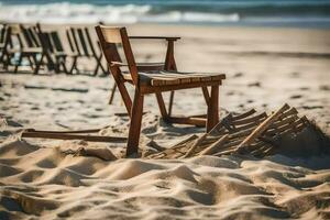
[[[287,102],[330,134],[330,31],[148,24],[128,31],[182,36],[179,70],[226,73],[220,117]],[[138,62],[160,62],[166,44],[136,40],[133,52]],[[0,219],[330,218],[330,155],[117,160],[125,144],[20,139],[28,128],[106,128],[101,134],[125,136],[129,118],[116,116],[125,112],[118,92],[108,105],[111,77],[1,73],[0,82]],[[146,97],[141,151],[205,132],[166,124],[155,103]],[[201,90],[177,91],[173,113],[206,113]],[[103,160],[75,154],[80,147]]]

